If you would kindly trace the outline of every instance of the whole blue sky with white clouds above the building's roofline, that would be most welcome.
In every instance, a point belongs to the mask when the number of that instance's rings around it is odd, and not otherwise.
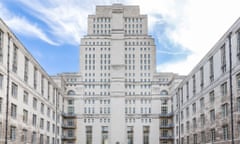
[[[96,5],[139,5],[159,72],[187,75],[240,17],[239,0],[1,0],[0,18],[50,75],[79,72],[80,39]]]

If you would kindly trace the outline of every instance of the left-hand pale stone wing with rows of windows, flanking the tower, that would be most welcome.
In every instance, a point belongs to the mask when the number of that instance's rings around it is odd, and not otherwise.
[[[0,143],[60,144],[62,95],[0,19]]]

